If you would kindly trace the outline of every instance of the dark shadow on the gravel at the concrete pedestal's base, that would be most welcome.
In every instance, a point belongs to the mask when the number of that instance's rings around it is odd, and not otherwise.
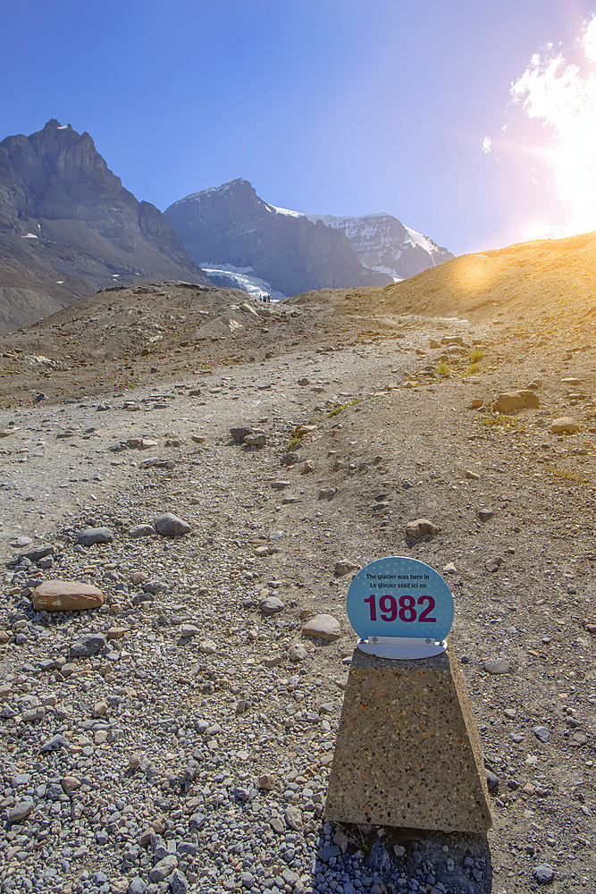
[[[491,894],[492,863],[484,835],[424,834],[416,829],[323,823],[312,890],[370,894]],[[306,889],[308,890],[308,889]]]

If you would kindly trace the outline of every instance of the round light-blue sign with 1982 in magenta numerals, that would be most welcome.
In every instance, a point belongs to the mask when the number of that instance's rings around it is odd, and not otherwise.
[[[360,639],[432,638],[453,623],[453,596],[441,575],[417,559],[390,556],[358,571],[348,589],[348,618]]]

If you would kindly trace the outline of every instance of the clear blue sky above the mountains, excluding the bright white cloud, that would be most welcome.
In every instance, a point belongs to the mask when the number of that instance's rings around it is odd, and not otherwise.
[[[567,131],[510,90],[536,54],[573,61],[595,11],[573,0],[6,4],[0,137],[71,123],[161,209],[245,177],[281,207],[387,211],[457,254],[496,248],[564,223],[545,148]],[[526,100],[545,78],[534,72]]]

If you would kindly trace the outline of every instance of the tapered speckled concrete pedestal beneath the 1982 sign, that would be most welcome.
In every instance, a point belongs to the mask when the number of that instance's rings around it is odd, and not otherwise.
[[[486,832],[486,779],[457,662],[354,650],[325,816],[333,822]]]

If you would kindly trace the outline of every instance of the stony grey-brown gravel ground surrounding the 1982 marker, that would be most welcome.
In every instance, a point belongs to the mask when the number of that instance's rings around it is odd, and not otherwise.
[[[451,375],[424,375],[446,334],[466,362],[485,342],[483,368],[461,375],[450,354]],[[0,411],[0,890],[596,888],[593,375],[565,340],[514,334],[408,319],[159,392]],[[537,375],[539,409],[466,409]],[[564,414],[577,434],[550,432]],[[130,536],[164,512],[190,533]],[[441,532],[414,544],[404,525],[421,516]],[[113,539],[78,544],[89,527]],[[428,561],[454,594],[488,842],[324,822],[354,645],[333,569],[390,554]],[[105,604],[35,611],[32,588],[62,578]],[[340,637],[302,635],[320,611]]]

